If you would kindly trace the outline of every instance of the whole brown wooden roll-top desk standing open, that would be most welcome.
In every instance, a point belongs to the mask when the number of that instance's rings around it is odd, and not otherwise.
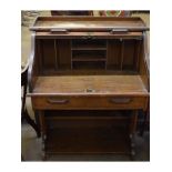
[[[138,113],[149,107],[149,28],[140,18],[39,17],[30,29],[29,95],[44,158],[133,158]]]

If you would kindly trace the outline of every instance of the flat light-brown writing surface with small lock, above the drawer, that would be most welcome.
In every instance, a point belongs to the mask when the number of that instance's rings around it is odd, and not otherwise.
[[[59,75],[39,77],[32,94],[148,95],[149,93],[140,75]]]

